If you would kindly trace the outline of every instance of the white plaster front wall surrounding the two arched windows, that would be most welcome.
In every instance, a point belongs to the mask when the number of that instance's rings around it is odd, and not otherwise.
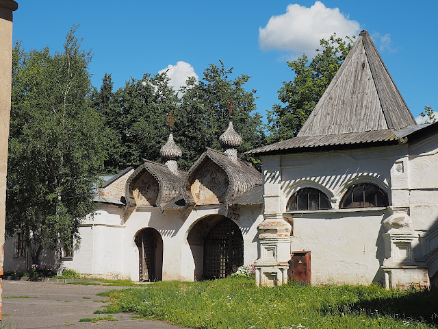
[[[393,180],[401,180],[396,184],[406,189],[407,176],[395,176],[391,171],[395,170],[394,163],[407,162],[406,156],[407,147],[401,145],[262,159],[263,177],[268,182],[264,190],[264,212],[282,213],[292,218],[291,252],[311,251],[313,284],[384,282],[381,265],[385,260],[382,237],[385,231],[381,223],[391,211],[385,208],[339,210],[339,204],[348,187],[360,182],[377,184],[387,192],[389,204],[397,202],[398,195],[392,193],[391,184]],[[324,192],[333,209],[287,212],[289,198],[305,187]],[[406,193],[400,194],[403,197]]]

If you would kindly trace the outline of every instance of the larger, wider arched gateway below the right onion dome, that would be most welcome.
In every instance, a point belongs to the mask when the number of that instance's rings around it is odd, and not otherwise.
[[[195,278],[225,278],[244,263],[244,240],[239,226],[222,215],[207,216],[190,230],[188,243]]]

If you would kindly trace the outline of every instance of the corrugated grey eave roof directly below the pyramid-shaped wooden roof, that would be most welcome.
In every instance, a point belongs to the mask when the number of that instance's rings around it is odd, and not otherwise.
[[[398,142],[397,136],[389,129],[371,132],[355,132],[345,134],[330,134],[321,136],[297,136],[287,141],[277,142],[271,145],[259,147],[247,151],[246,154],[276,154],[279,151],[302,151],[302,149],[329,147],[335,145],[355,145],[362,143]]]

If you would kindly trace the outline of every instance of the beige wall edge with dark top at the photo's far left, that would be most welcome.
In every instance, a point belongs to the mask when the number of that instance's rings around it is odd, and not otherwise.
[[[6,169],[8,167],[9,118],[12,76],[12,12],[18,4],[0,0],[0,273],[3,274],[5,244]],[[0,279],[1,280],[1,279]],[[1,282],[1,281],[0,281]],[[1,287],[1,286],[0,286]],[[1,307],[0,307],[1,320]]]

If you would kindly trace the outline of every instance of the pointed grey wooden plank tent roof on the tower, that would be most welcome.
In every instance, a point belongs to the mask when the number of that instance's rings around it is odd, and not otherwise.
[[[316,104],[300,136],[400,129],[416,125],[370,35],[362,31]]]

